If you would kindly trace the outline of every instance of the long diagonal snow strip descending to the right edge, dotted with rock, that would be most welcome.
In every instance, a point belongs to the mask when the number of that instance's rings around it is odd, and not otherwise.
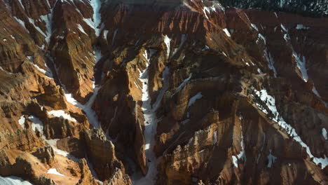
[[[255,91],[256,95],[260,97],[261,101],[266,103],[268,109],[273,113],[272,120],[278,123],[278,125],[280,125],[281,128],[285,129],[289,137],[292,137],[292,139],[294,139],[296,142],[301,144],[302,147],[306,148],[306,153],[308,153],[308,156],[310,158],[313,158],[313,163],[315,163],[316,165],[321,163],[322,169],[326,167],[328,165],[328,158],[326,156],[324,156],[324,158],[316,158],[315,156],[313,156],[308,145],[306,145],[301,140],[301,137],[297,135],[296,130],[291,125],[286,123],[285,120],[282,118],[282,116],[280,116],[277,108],[275,107],[275,99],[271,95],[268,95],[265,89],[258,91],[253,88],[253,90]],[[261,111],[263,111],[265,114],[268,114],[268,110],[266,110],[266,108],[262,107],[257,102],[255,104],[257,105],[257,107],[259,107]]]

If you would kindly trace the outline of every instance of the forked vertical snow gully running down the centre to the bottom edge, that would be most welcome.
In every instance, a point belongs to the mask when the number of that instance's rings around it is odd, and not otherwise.
[[[146,57],[147,54],[144,54]],[[150,162],[149,170],[145,177],[138,179],[134,184],[155,184],[156,182],[156,174],[157,174],[157,164],[158,160],[156,158],[155,153],[153,152],[154,146],[154,135],[156,134],[156,128],[158,123],[158,118],[156,117],[156,111],[158,107],[160,107],[160,102],[163,99],[165,91],[168,90],[169,81],[168,78],[170,76],[170,69],[165,67],[163,71],[163,88],[160,90],[160,93],[156,99],[156,102],[151,105],[151,97],[149,96],[149,86],[148,86],[148,66],[149,66],[149,58],[146,58],[147,64],[146,69],[142,71],[139,76],[139,80],[142,81],[142,111],[144,112],[144,141],[145,141],[145,153],[146,159]]]

